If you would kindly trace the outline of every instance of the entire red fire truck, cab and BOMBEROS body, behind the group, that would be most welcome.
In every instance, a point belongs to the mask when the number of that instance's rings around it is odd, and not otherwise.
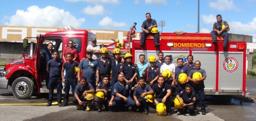
[[[87,30],[54,31],[39,35],[35,46],[34,54],[27,57],[28,39],[24,39],[23,59],[15,60],[5,66],[6,75],[0,79],[0,88],[12,87],[13,95],[20,99],[27,99],[37,91],[39,94],[48,92],[43,83],[45,75],[42,66],[40,52],[47,49],[47,43],[54,44],[54,50],[59,51],[67,47],[68,40],[74,40],[78,50],[78,61],[84,58],[85,49],[91,44],[91,39],[96,35]],[[208,95],[245,95],[245,58],[246,42],[228,42],[227,50],[223,51],[223,38],[218,37],[218,46],[211,42],[210,33],[160,33],[160,44],[154,47],[154,40],[151,35],[147,37],[145,47],[141,48],[140,40],[125,40],[113,42],[106,46],[108,50],[118,47],[122,55],[130,52],[134,58],[133,62],[139,61],[139,54],[145,54],[146,58],[158,52],[172,56],[172,63],[176,66],[176,59],[183,58],[187,62],[189,54],[195,60],[201,61],[201,68],[206,70],[205,93]]]

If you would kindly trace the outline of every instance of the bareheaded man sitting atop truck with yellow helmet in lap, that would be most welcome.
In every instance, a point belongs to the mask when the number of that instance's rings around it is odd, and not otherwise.
[[[149,34],[152,34],[154,36],[154,42],[155,42],[154,47],[160,46],[159,33],[158,33],[158,30],[156,29],[156,27],[157,27],[156,20],[151,19],[150,13],[146,13],[146,19],[147,20],[143,21],[143,23],[141,25],[142,32],[141,32],[141,44],[140,44],[140,46],[142,48],[144,47],[146,37]],[[155,27],[155,29],[153,31],[152,29],[154,27]]]

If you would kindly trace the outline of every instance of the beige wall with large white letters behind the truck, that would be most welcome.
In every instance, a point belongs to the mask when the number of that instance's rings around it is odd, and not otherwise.
[[[0,42],[23,42],[26,37],[36,37],[37,35],[45,34],[50,31],[61,31],[61,28],[56,27],[22,27],[22,26],[0,26]],[[106,30],[106,29],[86,29],[95,33],[98,44],[111,44],[112,39],[119,39],[120,42],[126,40],[128,31]],[[128,28],[129,30],[129,28]],[[136,38],[139,40],[139,33],[136,32]],[[30,42],[36,42],[35,39],[29,39]]]

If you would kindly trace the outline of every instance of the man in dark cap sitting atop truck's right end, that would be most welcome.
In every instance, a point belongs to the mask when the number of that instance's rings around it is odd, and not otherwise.
[[[227,21],[223,21],[221,15],[217,15],[217,22],[213,23],[213,31],[210,32],[210,35],[213,39],[213,44],[217,45],[216,35],[221,35],[223,39],[223,50],[226,50],[228,44],[228,30],[229,25]]]

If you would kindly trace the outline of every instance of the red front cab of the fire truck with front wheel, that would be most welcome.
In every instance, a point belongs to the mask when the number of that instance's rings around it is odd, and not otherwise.
[[[91,39],[96,38],[94,33],[87,30],[53,31],[37,37],[37,43],[33,50],[33,55],[27,57],[28,39],[23,42],[23,59],[15,60],[5,66],[5,78],[0,79],[0,88],[7,89],[11,86],[13,95],[19,99],[28,99],[34,92],[48,93],[45,87],[45,65],[40,52],[47,49],[47,44],[52,42],[54,50],[62,54],[62,50],[68,46],[68,41],[73,40],[78,50],[78,62],[86,56],[87,45],[91,44]]]

